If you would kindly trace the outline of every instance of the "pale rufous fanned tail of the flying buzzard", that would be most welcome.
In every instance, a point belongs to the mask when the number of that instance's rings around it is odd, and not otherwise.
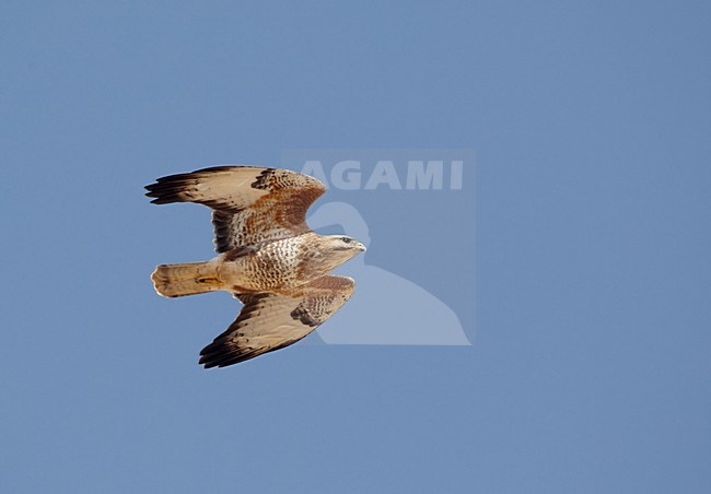
[[[151,274],[151,280],[158,294],[164,297],[196,295],[223,287],[210,262],[161,264]]]

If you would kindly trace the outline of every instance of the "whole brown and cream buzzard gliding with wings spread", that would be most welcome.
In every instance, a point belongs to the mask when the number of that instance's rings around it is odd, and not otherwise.
[[[200,352],[206,368],[295,343],[353,294],[352,279],[328,273],[365,246],[308,227],[306,211],[326,191],[315,178],[288,169],[217,166],[159,178],[145,189],[154,204],[196,202],[212,209],[218,256],[161,264],[151,275],[166,297],[226,291],[244,304],[226,331]]]

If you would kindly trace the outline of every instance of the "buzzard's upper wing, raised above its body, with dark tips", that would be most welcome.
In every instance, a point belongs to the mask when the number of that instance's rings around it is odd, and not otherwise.
[[[145,188],[154,204],[197,202],[211,208],[218,252],[308,232],[306,210],[326,191],[308,175],[256,166],[171,175]]]

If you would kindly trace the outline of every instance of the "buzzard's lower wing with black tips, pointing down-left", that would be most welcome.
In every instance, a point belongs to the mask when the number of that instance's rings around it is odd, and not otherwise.
[[[236,295],[244,303],[237,319],[200,352],[205,368],[226,367],[293,344],[330,318],[353,294],[347,277],[322,277],[280,295]]]

